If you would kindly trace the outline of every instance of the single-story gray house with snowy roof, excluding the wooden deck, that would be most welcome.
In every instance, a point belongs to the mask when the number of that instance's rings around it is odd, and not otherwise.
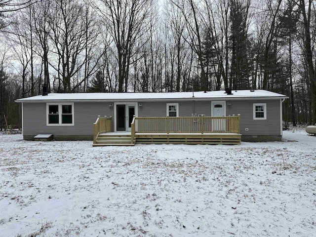
[[[45,96],[18,99],[16,102],[22,104],[22,131],[23,138],[26,140],[34,140],[39,134],[52,134],[55,140],[93,140],[95,139],[94,122],[98,116],[102,118],[106,116],[111,120],[108,131],[113,133],[131,131],[134,117],[192,117],[194,118],[192,123],[185,125],[183,122],[181,128],[180,125],[176,128],[179,132],[189,131],[189,133],[193,128],[190,128],[191,130],[186,128],[197,124],[200,127],[200,119],[205,117],[210,118],[209,124],[213,123],[213,125],[208,125],[203,120],[203,129],[212,126],[210,132],[223,133],[228,126],[231,126],[227,123],[228,117],[240,115],[237,133],[241,134],[242,141],[280,141],[282,102],[286,98],[288,97],[285,95],[266,90],[237,90],[232,93],[227,91],[49,93]],[[225,125],[214,130],[213,117],[221,117],[217,123],[225,123]],[[156,122],[151,121],[151,132],[155,132],[153,124]],[[164,122],[163,126],[167,123]],[[137,124],[136,130],[143,125]]]

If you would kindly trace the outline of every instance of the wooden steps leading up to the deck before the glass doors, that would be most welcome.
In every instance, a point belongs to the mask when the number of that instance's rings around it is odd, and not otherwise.
[[[93,144],[94,147],[103,147],[103,146],[134,146],[136,140],[131,143],[130,134],[107,134],[101,133],[96,139],[96,144]]]

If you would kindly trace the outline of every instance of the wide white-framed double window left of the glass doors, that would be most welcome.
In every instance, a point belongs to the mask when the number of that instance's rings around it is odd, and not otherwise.
[[[47,125],[74,125],[74,103],[46,104]]]

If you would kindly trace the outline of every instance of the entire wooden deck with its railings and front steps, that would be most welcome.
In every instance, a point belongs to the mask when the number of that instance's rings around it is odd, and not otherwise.
[[[111,132],[111,119],[99,117],[94,123],[94,147],[135,144],[237,145],[241,141],[239,116],[134,118],[131,132]]]

